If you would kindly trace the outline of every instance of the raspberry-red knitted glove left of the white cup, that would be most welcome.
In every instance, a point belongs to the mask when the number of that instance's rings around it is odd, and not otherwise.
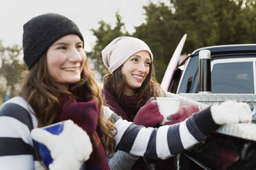
[[[158,110],[156,101],[148,101],[138,110],[134,117],[134,124],[144,125],[145,127],[154,127],[164,119]]]

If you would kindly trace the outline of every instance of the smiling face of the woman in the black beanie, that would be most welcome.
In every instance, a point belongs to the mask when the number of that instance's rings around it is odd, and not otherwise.
[[[46,53],[47,69],[52,79],[67,90],[81,79],[86,54],[83,41],[70,34],[56,40]]]

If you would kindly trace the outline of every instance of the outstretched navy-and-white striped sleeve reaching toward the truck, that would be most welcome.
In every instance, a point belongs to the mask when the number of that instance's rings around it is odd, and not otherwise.
[[[204,140],[217,128],[211,117],[211,109],[202,110],[181,123],[159,128],[134,125],[120,119],[111,110],[106,111],[115,121],[116,149],[147,158],[167,159]]]

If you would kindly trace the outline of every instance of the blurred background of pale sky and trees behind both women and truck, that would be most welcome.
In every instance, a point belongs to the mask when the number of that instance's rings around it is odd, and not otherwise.
[[[183,55],[200,47],[256,42],[255,0],[107,2],[0,0],[0,104],[19,93],[27,71],[22,26],[45,12],[63,14],[81,28],[89,66],[99,84],[108,73],[100,51],[117,36],[135,36],[149,45],[158,82],[184,34]]]

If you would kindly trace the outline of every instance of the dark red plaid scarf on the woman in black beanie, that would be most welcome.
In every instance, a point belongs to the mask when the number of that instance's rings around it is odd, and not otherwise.
[[[85,95],[92,95],[87,93]],[[62,94],[59,97],[60,112],[57,121],[65,121],[71,119],[79,127],[83,128],[92,141],[93,151],[86,161],[85,167],[90,170],[109,169],[107,164],[105,150],[100,142],[100,138],[96,132],[98,122],[98,104],[96,99],[89,101],[75,101],[69,95]]]

